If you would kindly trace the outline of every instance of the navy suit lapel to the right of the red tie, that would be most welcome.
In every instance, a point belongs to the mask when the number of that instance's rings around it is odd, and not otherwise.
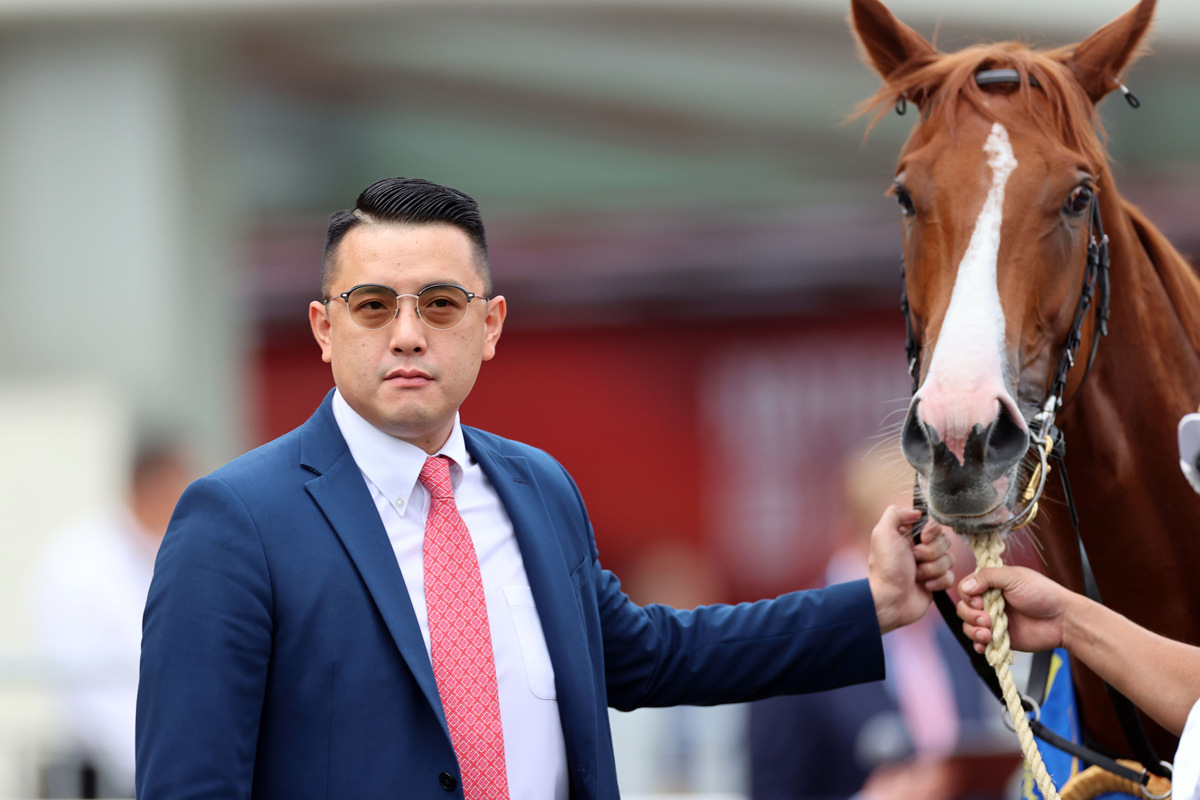
[[[538,480],[522,456],[503,456],[473,429],[464,427],[467,450],[479,462],[500,497],[524,561],[529,589],[554,667],[558,709],[571,766],[586,756],[594,760],[596,692],[589,657],[587,626],[571,585],[570,570]],[[572,770],[574,771],[574,770]]]

